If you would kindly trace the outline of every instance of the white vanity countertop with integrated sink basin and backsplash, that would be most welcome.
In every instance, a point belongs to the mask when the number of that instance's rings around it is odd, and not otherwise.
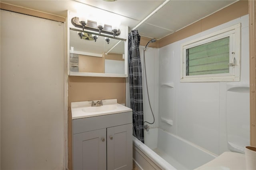
[[[99,100],[94,100],[96,103]],[[115,114],[115,113],[122,113],[122,112],[130,112],[132,111],[131,108],[123,106],[117,103],[117,99],[110,99],[110,100],[102,100],[103,106],[94,106],[91,107],[92,101],[85,101],[85,102],[72,102],[71,103],[71,114],[72,119],[79,119],[79,118],[88,118],[92,116],[101,116],[107,114]],[[109,106],[109,107],[108,107]],[[113,107],[112,110],[104,110],[104,108]],[[91,108],[99,109],[99,112],[84,112],[83,110],[90,110]]]

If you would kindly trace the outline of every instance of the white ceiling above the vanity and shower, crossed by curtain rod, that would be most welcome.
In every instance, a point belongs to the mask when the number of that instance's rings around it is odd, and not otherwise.
[[[146,22],[139,26],[141,36],[163,38],[206,16],[233,4],[237,0],[170,0]],[[58,16],[66,16],[66,10],[76,12],[78,8],[91,9],[94,17],[100,11],[118,16],[121,24],[134,28],[140,21],[160,6],[164,0],[1,0],[25,8],[39,10]]]

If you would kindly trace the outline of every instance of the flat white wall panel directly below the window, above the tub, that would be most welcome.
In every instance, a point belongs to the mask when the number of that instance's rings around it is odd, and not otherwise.
[[[178,136],[213,153],[218,151],[218,91],[218,83],[181,83],[177,92]]]

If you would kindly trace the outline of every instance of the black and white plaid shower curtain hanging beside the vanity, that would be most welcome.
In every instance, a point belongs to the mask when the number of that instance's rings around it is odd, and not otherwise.
[[[140,35],[137,30],[129,33],[129,80],[132,108],[133,135],[144,143],[144,116],[142,98],[142,69],[140,62]]]

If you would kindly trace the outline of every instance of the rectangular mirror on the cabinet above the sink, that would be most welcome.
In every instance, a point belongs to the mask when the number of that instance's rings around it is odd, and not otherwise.
[[[82,38],[81,38],[82,35]],[[126,74],[125,40],[70,30],[70,75],[80,73]]]

